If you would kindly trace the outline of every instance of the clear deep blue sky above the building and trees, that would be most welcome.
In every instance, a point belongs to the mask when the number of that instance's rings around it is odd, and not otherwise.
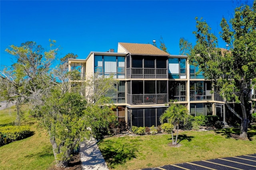
[[[49,39],[60,45],[59,58],[74,53],[84,59],[90,51],[112,48],[116,52],[118,42],[156,40],[159,45],[161,36],[168,51],[179,54],[181,37],[195,44],[196,16],[203,17],[218,36],[221,18],[232,18],[241,3],[244,1],[0,0],[0,65],[15,61],[4,51],[9,45],[34,41],[49,49]],[[220,39],[219,47],[225,47]]]

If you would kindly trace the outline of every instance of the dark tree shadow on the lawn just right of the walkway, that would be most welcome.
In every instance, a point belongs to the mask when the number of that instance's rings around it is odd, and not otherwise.
[[[136,147],[130,144],[120,145],[105,141],[102,145],[104,146],[100,147],[100,151],[106,163],[111,168],[114,168],[118,164],[124,164],[127,160],[131,160],[132,158],[136,158],[135,153],[138,152]]]

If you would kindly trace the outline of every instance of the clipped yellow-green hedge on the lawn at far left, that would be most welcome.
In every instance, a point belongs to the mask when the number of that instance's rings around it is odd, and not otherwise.
[[[7,127],[1,127],[0,133],[5,134],[7,140],[20,140],[30,135],[31,131],[28,125],[7,126]]]

